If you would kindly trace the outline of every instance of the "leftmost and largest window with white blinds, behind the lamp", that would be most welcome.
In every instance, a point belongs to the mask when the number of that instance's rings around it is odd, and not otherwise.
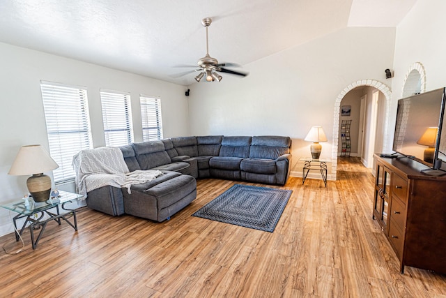
[[[49,154],[59,165],[53,171],[54,183],[75,179],[72,157],[82,149],[90,149],[90,119],[86,89],[52,82],[40,82]]]

